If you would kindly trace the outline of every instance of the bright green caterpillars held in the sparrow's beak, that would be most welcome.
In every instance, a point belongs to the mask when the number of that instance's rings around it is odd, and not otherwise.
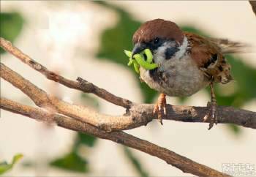
[[[129,63],[128,66],[133,64],[133,67],[135,68],[135,72],[140,73],[140,67],[143,67],[144,69],[151,70],[159,67],[158,64],[152,63],[153,61],[153,55],[151,53],[151,50],[146,48],[141,53],[135,54],[133,56],[134,59],[132,59],[132,52],[129,50],[124,50],[124,53],[129,57]],[[146,55],[146,61],[144,59],[143,55]]]

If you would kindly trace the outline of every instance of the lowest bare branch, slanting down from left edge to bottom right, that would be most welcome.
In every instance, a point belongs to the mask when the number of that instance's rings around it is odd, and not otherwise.
[[[50,123],[56,123],[60,127],[66,129],[72,129],[77,132],[88,133],[90,135],[97,136],[107,140],[112,140],[116,143],[121,143],[124,146],[138,149],[147,154],[151,154],[154,157],[165,160],[167,164],[178,167],[184,173],[192,173],[196,176],[228,176],[225,173],[220,173],[206,165],[201,165],[197,162],[176,154],[173,151],[169,151],[166,148],[159,147],[146,140],[141,140],[125,132],[105,132],[101,129],[86,124],[84,122],[69,118],[67,116],[61,116],[56,113],[49,113],[40,108],[32,108],[27,105],[20,105],[18,102],[13,102],[10,99],[1,98],[1,108],[11,111],[12,113],[18,113],[23,116],[34,118],[37,121],[46,121]],[[50,121],[49,121],[50,120]]]

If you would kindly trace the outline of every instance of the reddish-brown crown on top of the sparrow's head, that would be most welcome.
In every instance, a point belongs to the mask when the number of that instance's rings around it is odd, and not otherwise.
[[[155,19],[143,23],[133,34],[132,42],[149,42],[156,37],[163,39],[174,39],[182,44],[184,34],[176,23],[169,20]]]

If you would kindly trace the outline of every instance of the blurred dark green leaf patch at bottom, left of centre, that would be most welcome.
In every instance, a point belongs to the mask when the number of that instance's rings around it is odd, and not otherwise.
[[[50,162],[53,167],[59,167],[63,170],[86,173],[89,172],[88,162],[81,158],[76,152],[71,152],[59,159]]]

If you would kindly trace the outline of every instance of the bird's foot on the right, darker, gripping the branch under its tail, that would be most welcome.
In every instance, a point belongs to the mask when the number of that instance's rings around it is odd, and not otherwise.
[[[208,102],[207,103],[208,113],[206,113],[206,116],[204,116],[203,121],[209,121],[209,128],[211,129],[214,127],[214,123],[218,123],[218,117],[217,117],[217,103],[216,102]]]

